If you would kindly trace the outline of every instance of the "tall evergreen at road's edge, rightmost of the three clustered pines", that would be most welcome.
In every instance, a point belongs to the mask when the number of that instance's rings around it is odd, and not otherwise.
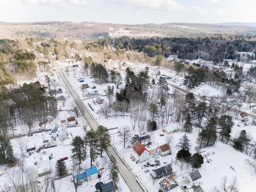
[[[103,151],[107,151],[110,146],[111,138],[109,131],[106,127],[100,125],[96,130],[96,135],[99,141],[100,157],[102,157]]]

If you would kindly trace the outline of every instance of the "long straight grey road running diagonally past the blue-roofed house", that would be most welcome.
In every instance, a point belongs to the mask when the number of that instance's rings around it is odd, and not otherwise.
[[[54,67],[56,68],[56,70],[60,74],[60,77],[62,78],[66,87],[68,88],[70,94],[74,98],[76,104],[80,108],[82,114],[84,115],[84,118],[86,119],[86,121],[88,122],[90,127],[93,130],[96,130],[97,127],[99,126],[98,122],[96,122],[96,120],[94,119],[92,114],[87,110],[87,108],[84,106],[84,103],[80,100],[79,96],[73,90],[73,88],[70,85],[70,83],[68,82],[66,76],[64,75],[64,73],[62,72],[60,67],[58,66],[57,62],[54,61],[54,60],[52,60],[52,62],[54,64]],[[119,172],[120,172],[121,176],[124,178],[127,185],[129,186],[130,190],[132,192],[144,192],[144,190],[142,189],[142,187],[140,186],[140,184],[138,183],[136,178],[133,176],[132,172],[130,172],[130,170],[128,169],[126,164],[124,164],[124,162],[121,160],[121,158],[118,156],[118,154],[116,153],[116,151],[114,150],[114,148],[112,146],[108,148],[107,154],[108,154],[108,156],[113,155],[116,158],[116,162],[117,162],[117,165],[119,167]]]

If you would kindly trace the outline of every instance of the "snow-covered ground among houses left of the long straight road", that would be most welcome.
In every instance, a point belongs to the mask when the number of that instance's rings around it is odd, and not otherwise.
[[[70,65],[67,63],[61,63],[61,65]],[[63,93],[57,94],[56,97],[63,95],[66,98],[66,102],[64,103],[64,105],[62,104],[62,102],[58,102],[58,116],[56,119],[50,121],[50,123],[46,124],[46,130],[47,129],[51,129],[54,127],[55,123],[60,125],[60,121],[61,120],[65,120],[66,118],[70,117],[70,116],[75,116],[74,114],[72,114],[72,112],[69,112],[72,103],[74,102],[72,96],[70,95],[70,93],[68,92],[68,90],[66,89],[65,84],[62,82],[59,74],[56,72],[56,70],[54,69],[50,69],[50,72],[41,72],[39,69],[37,71],[37,78],[36,79],[32,79],[30,81],[20,81],[18,82],[19,84],[23,84],[24,82],[26,83],[30,83],[30,82],[34,82],[36,80],[39,80],[39,82],[41,84],[45,84],[45,75],[48,75],[48,77],[50,77],[51,80],[55,79],[58,82],[58,88],[61,88]],[[70,77],[70,83],[73,85],[74,88],[77,89],[78,93],[80,91],[80,89],[78,90],[78,85],[80,84],[77,80],[78,78],[73,78]],[[90,79],[92,80],[92,79]],[[75,82],[75,84],[74,84]],[[81,83],[82,84],[82,83]],[[98,85],[96,85],[98,86]],[[106,88],[106,86],[104,86],[104,88]],[[80,95],[80,97],[82,98],[82,94]],[[78,118],[76,118],[78,120],[78,126],[77,127],[70,127],[67,128],[67,132],[68,132],[68,139],[64,140],[64,141],[60,141],[59,138],[57,137],[56,140],[53,140],[53,135],[50,135],[50,132],[41,132],[41,133],[36,133],[33,134],[33,136],[24,136],[24,141],[26,142],[26,146],[30,146],[30,145],[35,145],[36,149],[44,146],[44,144],[46,146],[50,146],[50,145],[57,145],[56,147],[52,147],[52,148],[48,148],[48,149],[42,149],[42,151],[47,151],[50,150],[50,152],[52,153],[53,158],[50,160],[50,168],[52,170],[52,172],[54,172],[55,170],[55,165],[56,165],[56,161],[60,158],[63,157],[68,157],[68,160],[65,160],[66,166],[67,168],[70,168],[72,165],[72,158],[71,158],[71,149],[72,146],[70,146],[70,142],[72,141],[72,138],[74,138],[75,136],[84,136],[85,132],[83,130],[83,124],[84,122],[86,122],[86,120],[84,119],[83,116],[79,116]],[[37,130],[42,130],[44,129],[44,125],[42,127],[39,126],[39,122],[36,122],[34,124],[34,127],[32,129],[32,131],[37,131]],[[87,129],[90,129],[90,127],[88,127]],[[14,131],[15,135],[18,134],[26,134],[28,132],[28,128],[25,125],[18,125],[16,126],[16,130]],[[23,139],[22,138],[22,139]],[[44,140],[49,140],[49,142],[47,143],[43,143]],[[17,144],[17,139],[11,139],[10,140],[12,146],[13,146],[13,151],[14,151],[14,156],[18,157],[21,156],[21,152],[20,149],[18,148],[18,144]],[[34,165],[34,163],[36,162],[39,153],[35,151],[32,151],[31,155],[28,154],[28,152],[25,152],[25,162],[26,162],[26,166],[32,166],[32,168],[37,170],[37,166]],[[104,155],[108,160],[108,156],[106,155],[106,153],[104,153]],[[93,162],[94,165],[96,165],[99,168],[102,167],[102,158],[98,157],[95,162]],[[87,156],[86,160],[84,160],[81,164],[81,168],[86,169],[90,167],[90,157],[89,155]],[[7,169],[12,169],[12,168],[7,168],[6,166],[0,166],[0,185],[4,184],[4,182],[7,181],[7,177],[6,177],[6,171]],[[74,192],[75,189],[73,187],[73,184],[71,182],[71,176],[62,178],[60,180],[56,181],[56,186],[60,186],[60,190],[62,191],[67,191],[67,192]],[[42,180],[42,177],[39,178],[39,180]],[[94,192],[96,191],[95,189],[95,184],[97,182],[99,182],[99,178],[96,180],[92,180],[90,182],[84,182],[81,186],[79,186],[78,188],[78,192],[84,192],[84,191],[90,191],[90,192]],[[102,176],[101,176],[101,181],[102,182],[110,182],[109,180],[109,176],[108,176],[108,171],[103,172]],[[60,185],[58,185],[58,183],[60,182]],[[120,180],[118,183],[118,188],[120,192],[129,192],[130,189],[127,186],[126,182],[122,179],[122,177],[120,176]]]

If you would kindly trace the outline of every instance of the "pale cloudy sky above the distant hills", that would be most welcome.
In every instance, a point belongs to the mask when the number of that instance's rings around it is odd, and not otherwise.
[[[256,0],[0,0],[2,22],[256,22]]]

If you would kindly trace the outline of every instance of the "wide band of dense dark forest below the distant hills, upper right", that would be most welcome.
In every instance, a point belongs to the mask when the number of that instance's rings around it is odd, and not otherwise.
[[[100,46],[113,45],[117,52],[134,50],[144,52],[150,57],[163,55],[178,55],[181,59],[198,59],[222,61],[223,59],[238,59],[238,52],[252,52],[255,50],[255,41],[226,40],[222,36],[212,38],[116,38],[99,39],[86,43],[85,48],[92,49]]]

